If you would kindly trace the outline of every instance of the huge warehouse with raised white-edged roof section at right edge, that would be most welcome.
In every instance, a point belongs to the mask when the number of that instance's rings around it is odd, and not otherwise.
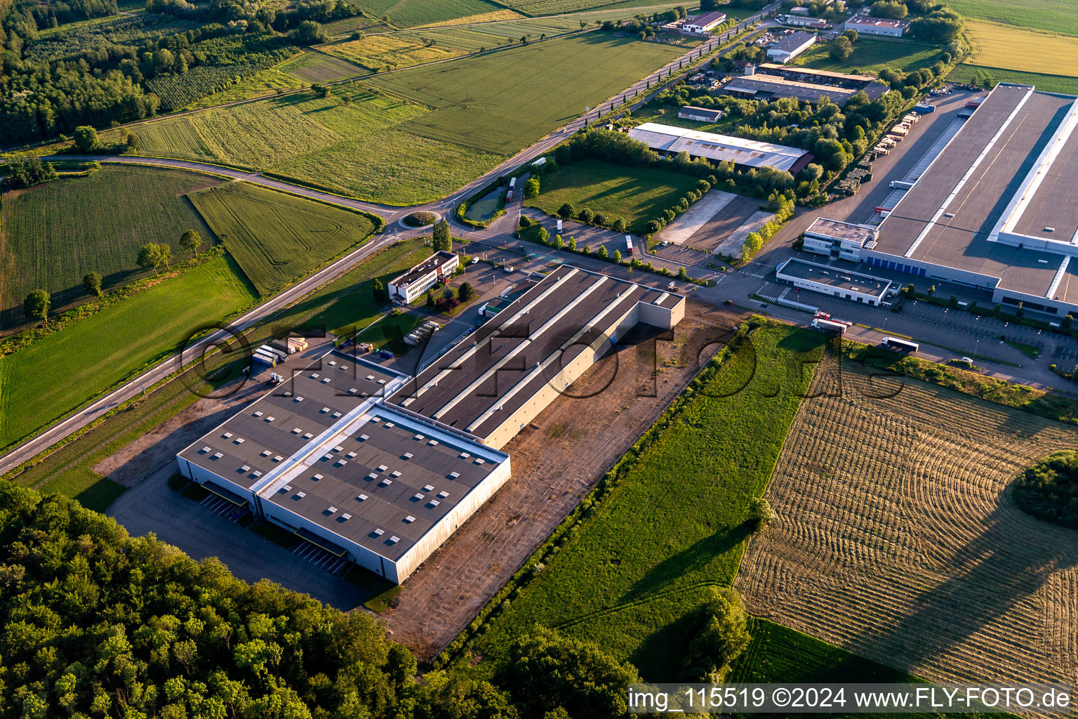
[[[860,259],[994,302],[1078,314],[1078,98],[1000,83]]]

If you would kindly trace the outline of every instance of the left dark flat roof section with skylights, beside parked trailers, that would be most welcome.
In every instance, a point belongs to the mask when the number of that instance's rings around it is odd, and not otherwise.
[[[295,362],[295,368],[289,367]],[[180,456],[248,488],[317,438],[369,397],[403,375],[333,350],[307,364],[277,365],[285,382],[226,419]]]

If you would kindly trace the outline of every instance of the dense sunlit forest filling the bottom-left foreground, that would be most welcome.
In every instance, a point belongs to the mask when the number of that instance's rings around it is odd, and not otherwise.
[[[0,627],[3,719],[591,719],[625,716],[625,683],[637,680],[631,664],[540,627],[496,666],[417,678],[411,652],[362,610],[248,584],[216,559],[10,482]],[[713,673],[744,641],[695,647],[706,651],[690,675]]]

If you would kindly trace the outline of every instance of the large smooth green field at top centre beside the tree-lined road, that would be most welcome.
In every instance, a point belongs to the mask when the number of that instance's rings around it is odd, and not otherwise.
[[[508,155],[680,53],[659,43],[589,33],[392,72],[370,83],[437,108],[398,129]]]

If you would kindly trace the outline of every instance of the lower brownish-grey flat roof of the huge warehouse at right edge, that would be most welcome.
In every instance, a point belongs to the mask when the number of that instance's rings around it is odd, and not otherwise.
[[[1028,85],[996,86],[880,225],[874,251],[996,277],[998,287],[1044,296],[1063,255],[990,241],[990,236],[1075,99]],[[1055,239],[1065,239],[1067,229],[1078,225],[1076,185],[1069,179],[1078,156],[1078,137],[1073,138],[1020,223],[1060,227],[1052,233]],[[1070,199],[1064,202],[1067,188]]]

